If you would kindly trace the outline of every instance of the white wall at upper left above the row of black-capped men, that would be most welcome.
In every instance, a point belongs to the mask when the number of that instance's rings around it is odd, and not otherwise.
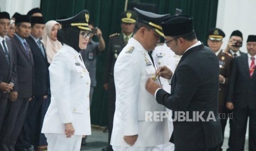
[[[41,0],[0,0],[1,11],[7,11],[10,17],[15,12],[22,15],[28,13],[32,8],[40,7]]]

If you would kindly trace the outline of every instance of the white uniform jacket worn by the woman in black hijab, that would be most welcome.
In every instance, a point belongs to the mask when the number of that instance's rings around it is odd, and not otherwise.
[[[42,133],[64,134],[72,123],[74,135],[91,135],[90,77],[79,53],[64,44],[49,67],[51,104],[43,120]]]

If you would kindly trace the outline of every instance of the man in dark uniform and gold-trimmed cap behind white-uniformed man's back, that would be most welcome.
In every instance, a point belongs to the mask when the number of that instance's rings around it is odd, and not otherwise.
[[[110,35],[107,47],[107,56],[104,72],[104,89],[107,90],[107,116],[108,116],[108,147],[102,151],[112,150],[110,145],[111,133],[113,129],[113,119],[115,114],[116,88],[114,83],[114,66],[121,50],[126,46],[130,37],[133,36],[133,30],[137,14],[132,10],[123,11],[120,14],[122,33]]]

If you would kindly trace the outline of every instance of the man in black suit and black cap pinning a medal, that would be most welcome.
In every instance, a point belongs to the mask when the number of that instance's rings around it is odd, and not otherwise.
[[[173,16],[162,22],[162,28],[167,46],[183,56],[175,73],[166,66],[156,72],[171,79],[171,94],[151,78],[146,89],[158,103],[172,109],[173,118],[177,118],[170,140],[175,150],[218,150],[222,141],[218,119],[219,61],[213,51],[197,40],[191,16]],[[179,114],[186,119],[179,120]],[[195,114],[201,114],[201,118]]]

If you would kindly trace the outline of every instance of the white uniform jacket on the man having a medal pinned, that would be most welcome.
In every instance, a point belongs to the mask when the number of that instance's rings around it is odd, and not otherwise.
[[[134,38],[130,38],[119,54],[114,78],[116,86],[116,112],[111,137],[112,146],[129,147],[123,136],[138,134],[133,147],[152,147],[168,142],[167,119],[150,117],[147,112],[166,111],[154,95],[145,89],[148,78],[155,77],[156,69],[148,51]],[[158,114],[159,115],[159,114]],[[160,120],[160,121],[157,121]]]

